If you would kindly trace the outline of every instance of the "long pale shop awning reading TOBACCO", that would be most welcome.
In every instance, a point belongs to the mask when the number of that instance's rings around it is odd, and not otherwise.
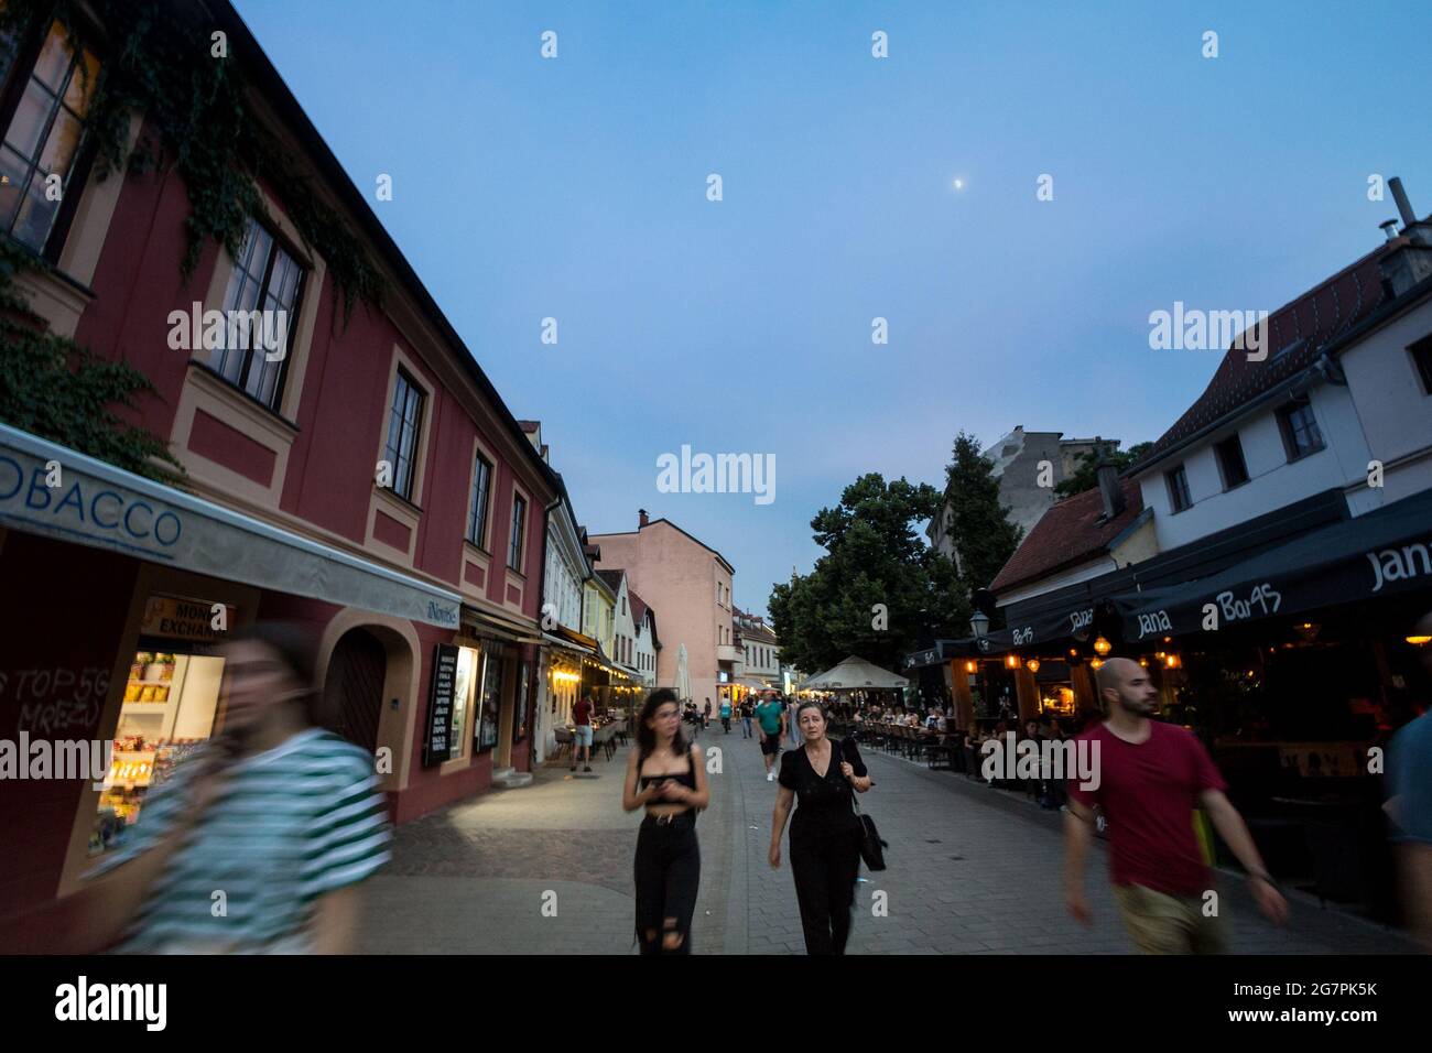
[[[0,424],[0,524],[455,629],[461,597]]]

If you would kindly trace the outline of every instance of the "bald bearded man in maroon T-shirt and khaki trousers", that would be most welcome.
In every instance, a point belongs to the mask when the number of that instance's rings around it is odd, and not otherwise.
[[[1193,812],[1203,808],[1247,870],[1259,908],[1282,924],[1287,903],[1263,867],[1243,817],[1224,797],[1227,785],[1209,752],[1183,728],[1148,719],[1158,701],[1148,670],[1127,658],[1111,658],[1098,669],[1098,695],[1108,719],[1078,736],[1090,739],[1090,752],[1098,758],[1097,789],[1080,789],[1074,781],[1068,785],[1070,811],[1064,819],[1068,913],[1080,924],[1090,924],[1084,861],[1093,808],[1103,805],[1114,898],[1134,947],[1143,954],[1221,953],[1221,910],[1213,872],[1203,861],[1193,830]]]

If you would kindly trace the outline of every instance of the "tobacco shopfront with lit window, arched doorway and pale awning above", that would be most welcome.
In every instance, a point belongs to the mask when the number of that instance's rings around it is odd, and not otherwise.
[[[259,617],[322,636],[325,693],[347,702],[344,734],[368,736],[395,811],[421,784],[424,645],[451,640],[454,593],[4,425],[0,580],[0,739],[113,746],[93,779],[6,785],[24,821],[0,832],[0,915],[76,890],[175,761],[222,732],[218,645]]]

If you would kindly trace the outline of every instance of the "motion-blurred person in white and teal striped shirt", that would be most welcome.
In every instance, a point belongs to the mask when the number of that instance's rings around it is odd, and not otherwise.
[[[89,933],[120,953],[344,953],[357,885],[390,858],[372,756],[318,725],[296,626],[225,648],[223,731],[150,791],[90,872]]]

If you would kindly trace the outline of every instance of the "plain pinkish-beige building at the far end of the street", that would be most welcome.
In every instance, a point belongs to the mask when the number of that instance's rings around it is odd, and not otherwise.
[[[736,679],[732,579],[736,572],[715,549],[674,523],[649,520],[640,511],[637,529],[624,534],[593,534],[600,546],[597,569],[626,570],[630,589],[662,613],[662,648],[656,652],[657,686],[676,685],[676,659],[686,645],[692,701],[707,698],[715,708],[722,685]]]

